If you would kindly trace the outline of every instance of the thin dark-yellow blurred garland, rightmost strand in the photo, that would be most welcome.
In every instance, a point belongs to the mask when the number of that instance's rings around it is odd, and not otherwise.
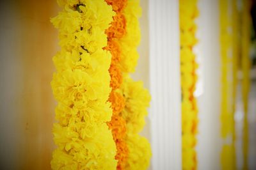
[[[250,38],[251,38],[251,29],[252,29],[252,19],[250,15],[250,8],[252,6],[252,1],[243,1],[243,13],[242,13],[242,72],[243,72],[243,104],[244,104],[244,129],[243,129],[243,158],[244,165],[243,169],[248,169],[248,95],[250,91]]]

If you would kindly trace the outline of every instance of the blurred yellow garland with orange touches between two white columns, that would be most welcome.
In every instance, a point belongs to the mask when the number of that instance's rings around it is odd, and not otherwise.
[[[197,80],[195,54],[196,0],[180,0],[180,72],[182,89],[182,169],[196,169],[198,108],[193,93]]]

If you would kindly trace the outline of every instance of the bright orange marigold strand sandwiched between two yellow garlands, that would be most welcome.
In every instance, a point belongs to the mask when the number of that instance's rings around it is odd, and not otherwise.
[[[113,139],[116,143],[115,159],[118,160],[116,169],[124,169],[129,151],[127,144],[125,143],[127,129],[126,122],[124,118],[120,116],[120,112],[122,112],[125,107],[125,100],[124,97],[118,93],[118,89],[123,80],[122,71],[120,69],[121,50],[118,40],[120,40],[126,33],[126,20],[122,14],[122,10],[125,8],[127,0],[106,0],[106,3],[111,5],[116,12],[111,27],[106,30],[106,35],[108,35],[108,46],[105,49],[109,50],[112,54],[111,65],[109,68],[111,77],[110,86],[112,91],[109,95],[109,102],[111,102],[113,116],[111,121],[108,122],[108,126],[112,130]]]

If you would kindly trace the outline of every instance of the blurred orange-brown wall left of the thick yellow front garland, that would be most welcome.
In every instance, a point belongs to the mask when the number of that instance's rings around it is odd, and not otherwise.
[[[57,30],[52,0],[1,1],[1,169],[50,169],[50,82]]]

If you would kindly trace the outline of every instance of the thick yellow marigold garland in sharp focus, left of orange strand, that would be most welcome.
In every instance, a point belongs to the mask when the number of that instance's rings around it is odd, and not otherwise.
[[[58,101],[53,134],[58,146],[52,169],[116,169],[116,146],[107,121],[111,54],[108,29],[115,15],[104,0],[59,0],[63,11],[51,19],[61,50],[51,82]]]

